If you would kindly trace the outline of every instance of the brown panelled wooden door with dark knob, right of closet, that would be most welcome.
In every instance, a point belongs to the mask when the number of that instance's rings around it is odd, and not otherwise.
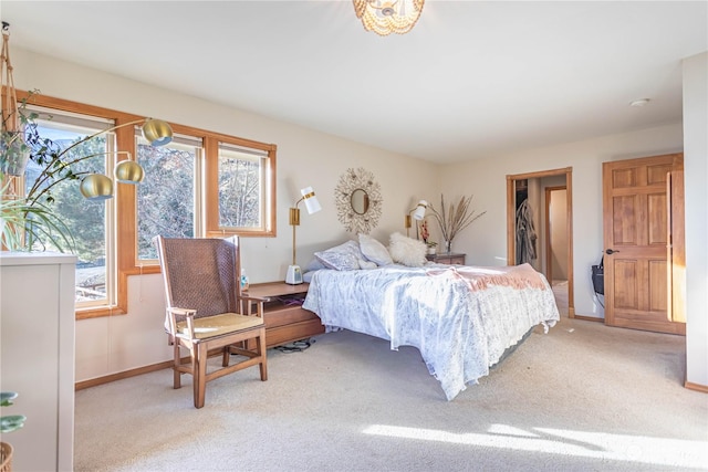
[[[669,174],[683,154],[603,162],[605,324],[685,334],[671,319]]]

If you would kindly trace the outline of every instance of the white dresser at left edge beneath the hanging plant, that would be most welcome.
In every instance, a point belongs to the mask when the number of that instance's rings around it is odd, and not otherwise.
[[[72,471],[76,258],[0,252],[0,389],[17,391],[2,415],[24,415],[3,434],[12,469]]]

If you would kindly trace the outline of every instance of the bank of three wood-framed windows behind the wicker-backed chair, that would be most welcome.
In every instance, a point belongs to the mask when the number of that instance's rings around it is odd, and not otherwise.
[[[56,186],[53,208],[77,245],[79,319],[126,312],[127,277],[159,272],[156,234],[275,235],[274,145],[173,124],[173,143],[152,147],[127,126],[144,117],[44,95],[30,99],[42,109],[43,137],[69,146],[106,132],[71,151],[93,156],[77,171],[112,176],[126,154],[145,169],[140,185],[114,185],[114,198],[103,202],[83,199],[75,180]],[[37,169],[28,170],[27,185],[32,171],[37,178]]]

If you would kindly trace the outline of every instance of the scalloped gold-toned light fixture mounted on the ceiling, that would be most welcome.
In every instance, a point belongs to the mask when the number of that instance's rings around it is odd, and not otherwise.
[[[425,0],[353,0],[356,18],[366,31],[386,36],[405,34],[415,27]]]

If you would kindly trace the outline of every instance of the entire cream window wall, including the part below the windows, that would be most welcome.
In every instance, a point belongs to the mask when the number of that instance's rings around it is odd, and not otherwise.
[[[381,185],[383,211],[372,235],[387,243],[405,233],[404,216],[421,196],[436,189],[437,166],[375,149],[335,136],[176,94],[21,49],[13,50],[14,81],[21,90],[171,123],[278,145],[278,237],[242,240],[242,262],[252,283],[284,280],[292,258],[288,209],[302,187],[312,186],[323,211],[303,212],[298,228],[298,262],[354,235],[336,216],[334,188],[350,167],[372,171]],[[149,178],[149,176],[148,176]],[[76,380],[86,380],[171,357],[163,331],[164,301],[159,276],[128,280],[128,314],[76,323]]]

